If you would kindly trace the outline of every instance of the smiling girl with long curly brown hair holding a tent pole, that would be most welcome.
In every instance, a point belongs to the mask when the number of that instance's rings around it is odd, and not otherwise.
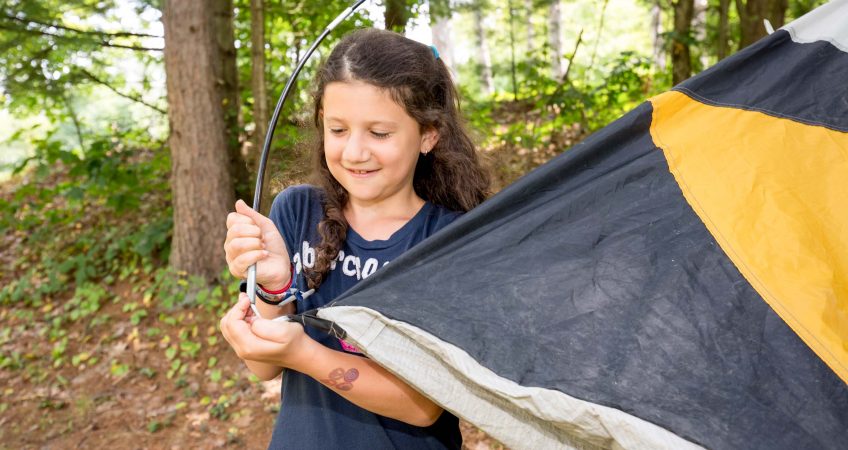
[[[295,186],[270,217],[239,201],[227,217],[230,271],[256,263],[221,331],[260,379],[283,376],[271,448],[459,448],[458,419],[350,344],[291,322],[367,278],[483,201],[489,177],[462,126],[456,89],[435,51],[401,35],[346,36],[317,74],[318,186]],[[278,308],[289,284],[315,289]]]

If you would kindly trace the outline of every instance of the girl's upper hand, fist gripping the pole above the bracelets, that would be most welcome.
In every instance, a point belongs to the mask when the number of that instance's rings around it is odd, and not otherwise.
[[[291,261],[286,241],[271,219],[239,200],[236,212],[227,215],[224,242],[227,265],[237,278],[247,278],[247,268],[256,264],[256,282],[268,290],[278,290],[289,282]]]

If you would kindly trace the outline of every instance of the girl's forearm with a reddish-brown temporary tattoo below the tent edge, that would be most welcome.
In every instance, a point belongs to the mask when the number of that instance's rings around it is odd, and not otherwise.
[[[304,351],[286,367],[311,376],[361,408],[410,425],[429,426],[441,415],[439,405],[374,361],[306,339]]]

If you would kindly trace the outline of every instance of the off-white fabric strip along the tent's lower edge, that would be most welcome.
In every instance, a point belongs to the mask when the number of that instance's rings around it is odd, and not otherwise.
[[[520,442],[513,448],[703,448],[615,408],[501,378],[462,349],[371,309],[339,306],[325,313],[388,370],[415,378],[418,389],[449,410],[465,411],[466,420],[490,434]]]

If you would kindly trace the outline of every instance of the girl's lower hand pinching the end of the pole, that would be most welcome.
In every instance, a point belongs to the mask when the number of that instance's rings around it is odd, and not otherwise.
[[[245,293],[221,318],[220,326],[224,339],[239,358],[276,366],[296,366],[309,357],[310,344],[314,343],[299,323],[256,317]]]

